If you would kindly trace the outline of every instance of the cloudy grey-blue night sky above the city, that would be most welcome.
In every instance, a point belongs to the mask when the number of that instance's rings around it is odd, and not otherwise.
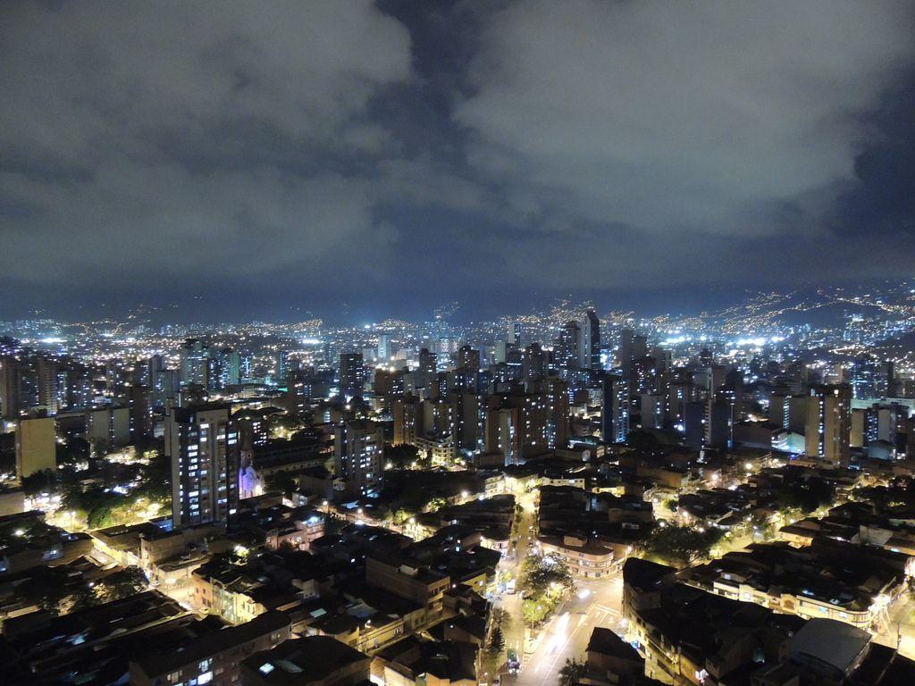
[[[910,276],[913,35],[879,0],[6,0],[0,319]]]

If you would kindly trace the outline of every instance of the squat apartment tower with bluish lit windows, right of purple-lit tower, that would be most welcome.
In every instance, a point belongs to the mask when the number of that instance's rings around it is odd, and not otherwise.
[[[382,425],[368,419],[334,427],[334,470],[353,494],[367,495],[382,482]]]

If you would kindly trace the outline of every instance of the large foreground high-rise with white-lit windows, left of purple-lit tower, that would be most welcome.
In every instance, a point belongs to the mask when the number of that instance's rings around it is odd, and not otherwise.
[[[238,434],[229,411],[228,403],[168,409],[165,450],[171,461],[175,528],[224,522],[234,511],[236,469],[231,456]]]

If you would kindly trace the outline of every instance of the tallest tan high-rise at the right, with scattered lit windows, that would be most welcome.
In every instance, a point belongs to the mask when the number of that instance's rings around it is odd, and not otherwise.
[[[851,417],[848,384],[813,386],[807,397],[806,456],[847,468],[851,463]]]

